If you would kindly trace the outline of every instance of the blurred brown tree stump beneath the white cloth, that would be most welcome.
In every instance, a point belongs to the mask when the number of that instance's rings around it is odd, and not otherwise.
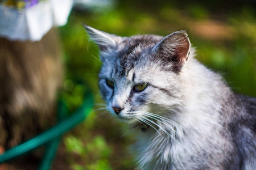
[[[0,146],[14,147],[54,124],[62,77],[55,28],[35,42],[0,38]]]

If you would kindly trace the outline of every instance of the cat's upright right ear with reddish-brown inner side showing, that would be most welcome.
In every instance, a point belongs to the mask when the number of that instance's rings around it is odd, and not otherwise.
[[[155,45],[154,51],[164,59],[172,62],[172,69],[180,71],[187,63],[190,41],[184,30],[171,33]]]

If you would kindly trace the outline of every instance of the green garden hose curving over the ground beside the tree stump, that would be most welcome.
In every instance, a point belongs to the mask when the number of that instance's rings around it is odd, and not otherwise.
[[[19,146],[16,146],[4,152],[2,155],[0,155],[0,164],[3,162],[7,162],[10,159],[16,158],[17,156],[20,156],[22,154],[25,154],[28,151],[34,150],[35,148],[44,145],[52,140],[53,143],[50,142],[49,146],[47,147],[48,151],[52,150],[52,148],[55,148],[56,150],[56,147],[59,143],[57,141],[57,137],[59,137],[61,134],[65,133],[65,131],[74,128],[77,124],[82,122],[86,118],[87,114],[91,111],[93,107],[92,94],[90,94],[89,91],[86,91],[84,96],[84,102],[82,103],[81,107],[79,107],[71,116],[65,118],[65,120],[59,122],[59,124],[45,131],[44,133],[30,139],[27,142],[22,143]],[[59,105],[59,109],[61,109],[61,111],[59,112],[67,112],[67,110],[64,111],[64,107],[65,105],[63,103],[61,104],[61,106]],[[56,141],[54,142],[55,139]],[[49,165],[51,165],[51,163],[49,163],[49,161],[47,160],[49,160],[49,158],[52,158],[52,156],[54,158],[55,152],[56,151],[53,151],[52,154],[46,154],[47,158],[45,162],[48,162]],[[47,165],[41,165],[39,169],[47,169]]]

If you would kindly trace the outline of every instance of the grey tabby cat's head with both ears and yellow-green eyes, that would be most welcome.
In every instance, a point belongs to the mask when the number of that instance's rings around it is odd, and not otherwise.
[[[85,29],[101,50],[100,91],[110,113],[136,122],[180,104],[179,74],[191,48],[185,31],[120,37]]]

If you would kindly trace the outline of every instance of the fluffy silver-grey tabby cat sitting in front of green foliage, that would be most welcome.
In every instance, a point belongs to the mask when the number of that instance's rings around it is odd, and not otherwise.
[[[100,48],[106,109],[137,135],[139,169],[256,169],[256,98],[198,62],[186,31],[120,37],[84,27]]]

